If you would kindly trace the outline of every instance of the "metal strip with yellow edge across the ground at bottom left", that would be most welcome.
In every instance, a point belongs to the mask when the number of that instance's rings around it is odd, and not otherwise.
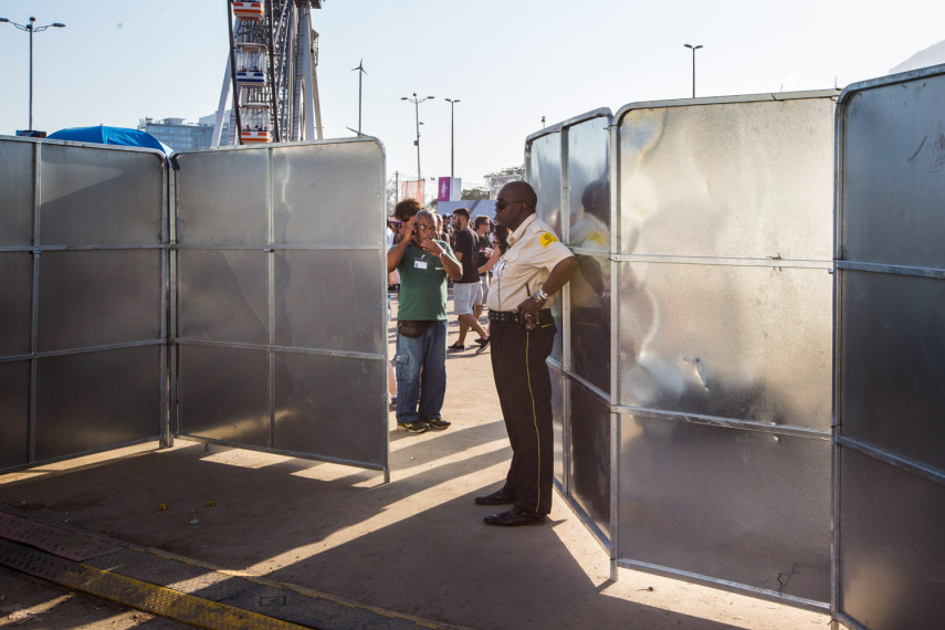
[[[0,564],[203,628],[455,629],[0,512]]]

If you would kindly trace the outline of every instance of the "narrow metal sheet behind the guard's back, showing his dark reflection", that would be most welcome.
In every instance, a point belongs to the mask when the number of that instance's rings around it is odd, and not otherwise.
[[[561,125],[565,243],[579,267],[564,293],[568,495],[605,545],[611,533],[610,123],[598,109]]]

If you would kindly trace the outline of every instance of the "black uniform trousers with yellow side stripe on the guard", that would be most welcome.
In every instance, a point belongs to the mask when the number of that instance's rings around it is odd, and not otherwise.
[[[515,322],[492,322],[492,376],[512,443],[505,491],[515,505],[533,514],[552,511],[554,430],[552,378],[545,359],[552,354],[554,323],[534,330]]]

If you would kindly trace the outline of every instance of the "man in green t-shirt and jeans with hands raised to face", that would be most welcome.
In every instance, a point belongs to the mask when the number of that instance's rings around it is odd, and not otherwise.
[[[387,252],[388,273],[400,273],[397,428],[410,433],[442,431],[450,426],[440,416],[447,393],[447,276],[459,280],[463,267],[449,243],[434,238],[433,213],[416,199],[405,199],[393,213],[402,222],[399,242]]]

